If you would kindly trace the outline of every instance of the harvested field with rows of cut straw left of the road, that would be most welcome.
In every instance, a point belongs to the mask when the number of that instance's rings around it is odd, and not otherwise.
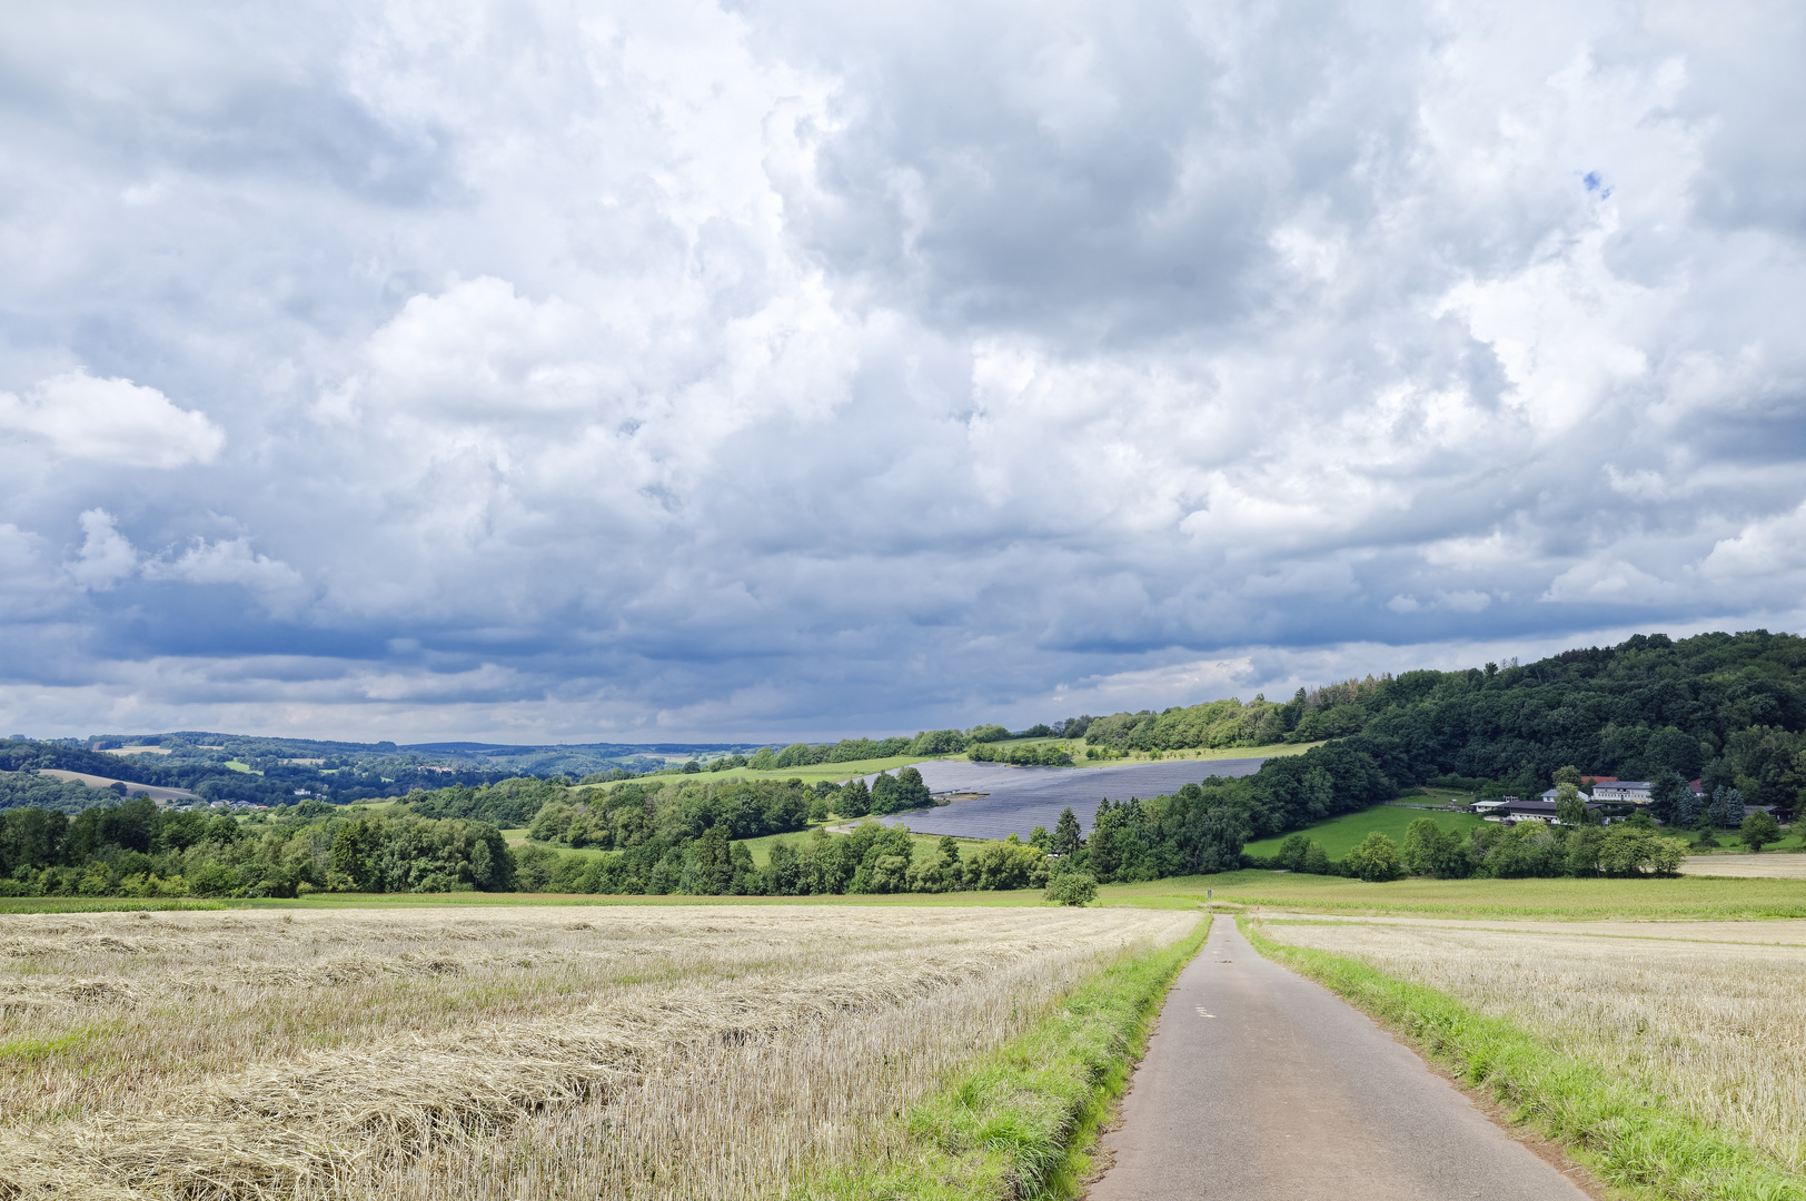
[[[0,1197],[755,1197],[1192,914],[0,917]]]

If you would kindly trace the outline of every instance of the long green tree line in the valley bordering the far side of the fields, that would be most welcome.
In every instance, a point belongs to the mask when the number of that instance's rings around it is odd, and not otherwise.
[[[1353,740],[1351,740],[1353,742]],[[1412,824],[1403,847],[1373,836],[1340,863],[1293,834],[1273,860],[1253,860],[1250,834],[1304,822],[1382,787],[1371,748],[1329,744],[1244,778],[1210,778],[1147,800],[1103,800],[1089,836],[1071,809],[1026,842],[917,842],[903,825],[865,822],[831,834],[811,822],[854,816],[890,789],[807,787],[800,780],[694,778],[632,782],[607,791],[544,780],[491,789],[417,793],[385,815],[305,802],[265,820],[159,809],[148,798],[69,816],[0,813],[0,896],[300,896],[307,892],[605,892],[695,896],[829,896],[1047,889],[1085,899],[1098,883],[1136,883],[1235,867],[1286,867],[1364,880],[1400,874],[1629,876],[1672,870],[1678,840],[1647,816],[1598,829],[1584,805],[1575,825],[1486,825],[1468,838],[1434,820]],[[899,780],[899,777],[880,777]],[[896,789],[905,787],[894,784]],[[1382,787],[1383,791],[1383,787]],[[479,815],[518,820],[527,845],[509,847]],[[439,816],[428,816],[439,815]],[[805,831],[807,833],[802,833]],[[784,838],[784,834],[795,834]],[[757,863],[748,840],[778,836]]]

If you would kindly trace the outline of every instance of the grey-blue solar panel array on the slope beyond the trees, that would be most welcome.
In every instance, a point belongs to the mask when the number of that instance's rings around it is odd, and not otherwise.
[[[1105,796],[1111,800],[1159,796],[1214,775],[1253,775],[1264,762],[1264,759],[1174,759],[1122,768],[1006,768],[932,760],[916,764],[930,793],[986,795],[878,820],[887,825],[908,825],[917,834],[1028,838],[1037,825],[1051,831],[1060,820],[1060,811],[1071,805],[1080,829],[1089,834],[1098,802]],[[867,784],[876,778],[867,777]]]

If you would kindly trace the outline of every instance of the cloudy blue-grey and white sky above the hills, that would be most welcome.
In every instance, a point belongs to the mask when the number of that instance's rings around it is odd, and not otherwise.
[[[1799,628],[1799,4],[0,29],[0,726],[1028,722]]]

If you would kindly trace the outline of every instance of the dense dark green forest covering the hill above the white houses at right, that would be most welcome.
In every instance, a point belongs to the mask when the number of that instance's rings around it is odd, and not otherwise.
[[[1792,809],[1806,742],[1806,639],[1752,630],[1636,636],[1526,666],[1405,672],[1299,694],[1075,717],[1062,737],[1140,751],[1365,735],[1400,784],[1461,777],[1537,793],[1575,764],[1651,780],[1663,771]]]

